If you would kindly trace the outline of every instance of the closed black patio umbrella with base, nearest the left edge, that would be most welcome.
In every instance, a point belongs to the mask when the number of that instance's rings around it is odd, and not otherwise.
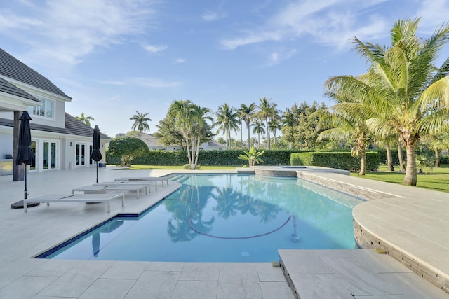
[[[29,120],[32,118],[29,116],[27,111],[22,113],[20,116],[20,128],[19,128],[19,147],[17,152],[17,157],[15,158],[15,163],[17,165],[32,165],[34,163],[34,153],[31,149],[31,130],[29,129]],[[24,190],[24,199],[26,200],[28,197],[27,190],[27,169],[25,166],[25,190]],[[34,202],[28,204],[28,207],[34,207],[39,205],[39,202]],[[22,208],[23,201],[15,202],[11,204],[13,209]]]

